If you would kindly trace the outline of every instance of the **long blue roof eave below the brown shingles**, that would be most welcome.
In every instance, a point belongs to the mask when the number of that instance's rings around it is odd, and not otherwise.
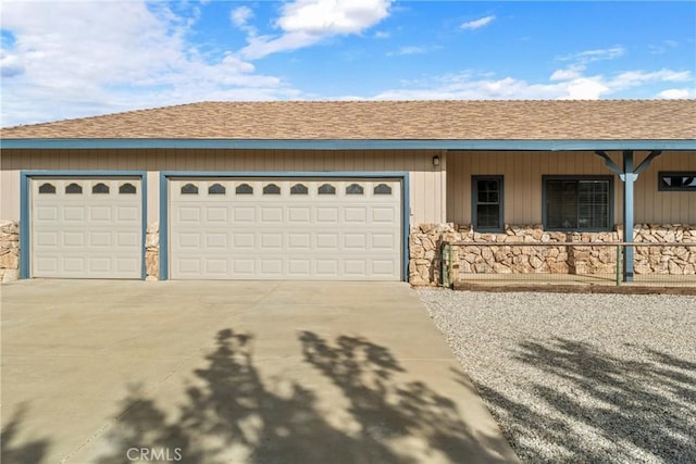
[[[1,149],[263,149],[263,150],[696,150],[695,139],[2,139]]]

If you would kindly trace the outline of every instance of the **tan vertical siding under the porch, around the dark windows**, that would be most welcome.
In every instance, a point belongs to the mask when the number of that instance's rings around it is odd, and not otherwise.
[[[608,153],[619,166],[622,154]],[[635,153],[639,165],[647,152]],[[658,191],[659,171],[696,171],[696,152],[663,152],[635,185],[635,223],[696,224],[696,193]],[[543,175],[612,175],[614,223],[623,217],[623,185],[592,152],[476,151],[447,153],[447,222],[471,224],[471,176],[502,175],[505,223],[542,223]]]

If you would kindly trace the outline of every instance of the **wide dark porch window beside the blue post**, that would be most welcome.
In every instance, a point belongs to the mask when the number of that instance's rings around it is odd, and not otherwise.
[[[609,230],[613,180],[601,177],[544,176],[544,228]]]

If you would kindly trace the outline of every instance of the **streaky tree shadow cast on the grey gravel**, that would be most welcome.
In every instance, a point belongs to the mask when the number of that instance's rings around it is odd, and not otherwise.
[[[524,399],[476,387],[523,461],[696,462],[696,364],[630,348],[639,361],[563,338],[523,342],[514,359],[547,384],[524,384]]]

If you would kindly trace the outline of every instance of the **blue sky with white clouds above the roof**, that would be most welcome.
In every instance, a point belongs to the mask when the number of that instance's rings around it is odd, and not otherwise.
[[[696,98],[694,1],[0,3],[3,127],[207,100]]]

